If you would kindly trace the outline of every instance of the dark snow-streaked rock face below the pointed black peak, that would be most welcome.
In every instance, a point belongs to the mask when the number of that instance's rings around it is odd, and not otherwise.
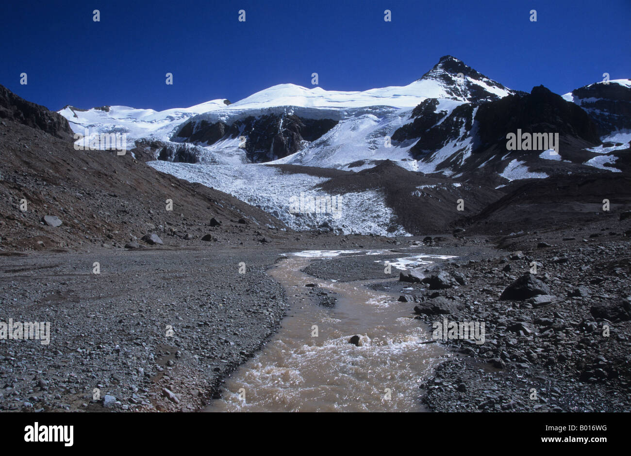
[[[543,86],[534,87],[529,94],[514,93],[500,99],[480,97],[453,108],[445,107],[442,100],[428,98],[416,106],[410,122],[394,131],[392,141],[398,146],[416,141],[410,148],[416,160],[432,163],[436,170],[473,173],[477,178],[488,170],[501,172],[513,159],[537,161],[543,150],[506,148],[509,132],[558,133],[563,159],[579,163],[593,156],[582,149],[601,143],[598,127],[584,110]],[[543,161],[548,175],[559,165],[551,165],[550,160],[539,161]],[[490,165],[483,169],[483,163]],[[489,182],[487,178],[481,180]]]

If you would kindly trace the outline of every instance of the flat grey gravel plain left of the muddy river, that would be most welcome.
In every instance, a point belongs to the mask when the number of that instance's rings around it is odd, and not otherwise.
[[[287,301],[266,269],[287,248],[198,242],[0,256],[0,321],[50,322],[49,344],[0,341],[0,409],[203,407],[278,329]],[[310,245],[346,243],[384,245],[371,237]]]

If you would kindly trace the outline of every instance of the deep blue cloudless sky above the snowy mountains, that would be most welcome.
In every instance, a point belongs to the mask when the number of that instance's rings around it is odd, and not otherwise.
[[[446,54],[517,90],[631,78],[631,0],[3,0],[0,17],[0,84],[52,110],[235,102],[314,72],[326,90],[407,85]]]

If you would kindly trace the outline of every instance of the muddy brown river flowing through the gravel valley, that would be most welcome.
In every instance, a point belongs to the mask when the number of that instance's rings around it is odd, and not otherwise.
[[[421,343],[431,332],[413,319],[410,303],[396,301],[398,294],[365,286],[375,280],[341,283],[300,272],[312,260],[290,255],[270,271],[290,310],[279,332],[225,379],[221,399],[206,411],[423,411],[419,385],[446,351]],[[336,293],[336,305],[309,303],[307,283]],[[360,346],[348,342],[353,335]]]

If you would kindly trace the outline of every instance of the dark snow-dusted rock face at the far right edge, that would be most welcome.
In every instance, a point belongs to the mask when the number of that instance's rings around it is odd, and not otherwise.
[[[600,136],[631,129],[630,87],[598,83],[572,91],[572,98],[594,121]]]

